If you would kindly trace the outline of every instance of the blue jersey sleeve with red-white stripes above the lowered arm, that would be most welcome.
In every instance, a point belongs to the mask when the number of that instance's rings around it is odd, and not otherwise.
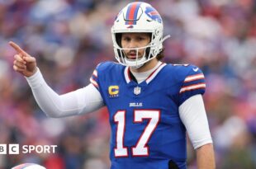
[[[188,67],[187,72],[188,73],[183,76],[178,92],[179,105],[182,105],[189,97],[197,94],[203,95],[206,91],[205,77],[201,69],[191,65]]]

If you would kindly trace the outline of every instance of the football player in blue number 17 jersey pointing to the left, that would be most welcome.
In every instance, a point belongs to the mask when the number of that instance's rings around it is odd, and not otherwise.
[[[50,117],[81,115],[107,106],[111,169],[187,168],[186,132],[197,168],[215,168],[197,66],[163,63],[163,21],[145,2],[131,2],[111,28],[118,63],[99,63],[90,84],[58,95],[45,82],[36,59],[13,42],[13,68],[26,77],[40,108]]]

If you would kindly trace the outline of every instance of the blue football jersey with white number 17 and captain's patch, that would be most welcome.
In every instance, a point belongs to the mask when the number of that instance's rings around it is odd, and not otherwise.
[[[130,68],[106,62],[90,80],[109,111],[111,169],[168,169],[171,161],[186,168],[186,129],[178,107],[205,92],[199,68],[162,63],[138,84]]]

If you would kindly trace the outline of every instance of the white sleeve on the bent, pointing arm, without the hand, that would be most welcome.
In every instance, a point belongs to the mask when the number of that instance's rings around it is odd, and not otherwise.
[[[40,69],[26,77],[37,104],[47,116],[58,118],[92,112],[104,106],[100,92],[92,85],[58,95],[45,82]]]

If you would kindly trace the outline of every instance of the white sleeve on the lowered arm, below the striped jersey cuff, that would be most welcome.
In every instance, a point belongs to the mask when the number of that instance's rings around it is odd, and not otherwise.
[[[206,110],[201,94],[191,96],[178,108],[179,115],[187,129],[193,148],[212,143]]]

